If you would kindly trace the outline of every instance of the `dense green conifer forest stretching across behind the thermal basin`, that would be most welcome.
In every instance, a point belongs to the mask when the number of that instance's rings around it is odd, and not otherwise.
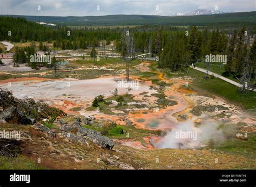
[[[253,25],[252,25],[253,26]],[[227,31],[207,26],[137,26],[117,28],[70,28],[68,26],[49,27],[28,21],[25,18],[0,17],[0,40],[12,42],[38,41],[39,49],[46,54],[51,50],[42,41],[53,43],[61,49],[87,49],[113,42],[123,58],[150,53],[157,57],[159,68],[172,71],[205,60],[206,55],[227,55],[225,76],[233,75],[244,79],[255,78],[256,43],[252,27]],[[94,49],[93,49],[94,50]],[[16,48],[15,62],[25,63],[35,53],[35,46]],[[29,63],[29,62],[28,62]],[[32,66],[29,63],[29,66]],[[220,66],[221,63],[220,63]]]

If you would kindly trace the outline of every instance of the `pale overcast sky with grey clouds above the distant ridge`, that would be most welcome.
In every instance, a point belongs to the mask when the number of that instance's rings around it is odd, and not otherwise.
[[[214,10],[215,6],[224,12],[256,10],[256,0],[0,0],[0,3],[2,15],[31,16],[173,16],[197,9]]]

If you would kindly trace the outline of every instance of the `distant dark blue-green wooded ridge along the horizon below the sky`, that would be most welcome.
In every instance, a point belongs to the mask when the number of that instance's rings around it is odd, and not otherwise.
[[[55,17],[55,16],[18,16],[1,15],[2,17],[24,17],[31,21],[43,21],[58,25],[212,25],[225,23],[256,23],[256,11],[223,13],[201,16],[146,16],[146,15],[108,15],[84,17]]]

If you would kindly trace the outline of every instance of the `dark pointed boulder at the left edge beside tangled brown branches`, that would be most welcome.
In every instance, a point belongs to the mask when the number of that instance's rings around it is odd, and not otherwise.
[[[6,121],[6,123],[17,123],[17,124],[32,124],[35,123],[35,119],[26,116],[16,106],[11,106],[0,113],[0,121]]]

